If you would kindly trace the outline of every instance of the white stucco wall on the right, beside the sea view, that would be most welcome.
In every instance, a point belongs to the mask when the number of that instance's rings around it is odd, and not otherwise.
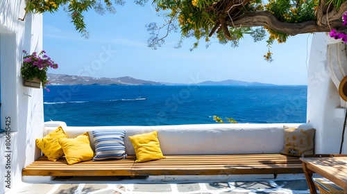
[[[328,35],[312,37],[307,86],[307,121],[316,128],[316,153],[339,153],[346,108],[341,107],[337,87],[332,82],[327,62]],[[344,64],[347,66],[347,64]],[[347,141],[347,132],[344,136]],[[347,153],[347,142],[342,153]]]

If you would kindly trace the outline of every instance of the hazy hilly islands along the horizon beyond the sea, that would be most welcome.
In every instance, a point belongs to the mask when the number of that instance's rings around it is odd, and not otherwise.
[[[94,78],[90,76],[70,76],[65,74],[47,74],[51,85],[185,85],[178,83],[153,82],[149,80],[139,80],[129,76],[120,78]],[[255,86],[255,85],[272,85],[260,82],[244,82],[239,80],[223,80],[219,82],[205,81],[194,85],[240,85],[240,86]]]

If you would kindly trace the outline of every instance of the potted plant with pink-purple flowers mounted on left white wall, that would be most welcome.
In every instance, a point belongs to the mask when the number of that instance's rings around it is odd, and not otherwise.
[[[28,55],[25,50],[23,50],[23,66],[21,68],[21,73],[24,81],[24,86],[37,87],[41,86],[46,88],[49,85],[49,80],[47,80],[47,70],[49,68],[57,69],[58,64],[53,62],[49,56],[47,56],[45,51],[41,51],[38,55],[33,52]]]

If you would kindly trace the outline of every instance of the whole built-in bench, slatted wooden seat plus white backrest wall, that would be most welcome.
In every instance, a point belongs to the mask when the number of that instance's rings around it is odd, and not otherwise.
[[[69,127],[50,121],[44,134],[62,126],[69,138],[85,131],[125,130],[126,159],[67,164],[64,157],[48,161],[40,157],[22,170],[23,176],[153,176],[153,175],[278,175],[303,173],[298,157],[281,155],[283,124],[209,124],[160,126]],[[298,126],[297,124],[296,126]],[[308,126],[310,127],[310,126]],[[158,131],[165,159],[135,162],[128,136]],[[94,141],[90,141],[94,150]]]

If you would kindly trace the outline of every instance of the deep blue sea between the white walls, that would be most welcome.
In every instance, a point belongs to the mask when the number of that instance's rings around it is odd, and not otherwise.
[[[307,86],[50,85],[44,121],[70,126],[305,123]]]

